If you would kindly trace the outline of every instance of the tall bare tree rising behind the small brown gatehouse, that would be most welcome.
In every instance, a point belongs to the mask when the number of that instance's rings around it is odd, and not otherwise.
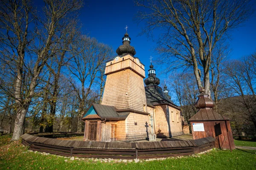
[[[163,31],[157,48],[166,54],[163,62],[174,57],[175,67],[192,66],[198,88],[204,86],[210,95],[212,51],[250,15],[249,0],[137,0],[135,4],[145,9],[137,15],[145,23],[142,33]]]

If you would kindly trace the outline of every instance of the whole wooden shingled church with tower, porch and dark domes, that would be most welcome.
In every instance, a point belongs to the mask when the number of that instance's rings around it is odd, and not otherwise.
[[[180,108],[171,101],[167,87],[158,86],[154,66],[150,65],[144,86],[145,65],[134,57],[127,33],[122,40],[118,55],[106,63],[102,104],[91,105],[82,117],[84,141],[131,142],[182,135]]]

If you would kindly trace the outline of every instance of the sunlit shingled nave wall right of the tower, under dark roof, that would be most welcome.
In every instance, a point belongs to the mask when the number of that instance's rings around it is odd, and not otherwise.
[[[154,122],[155,133],[158,137],[173,137],[183,134],[180,111],[176,108],[168,105],[156,106]]]

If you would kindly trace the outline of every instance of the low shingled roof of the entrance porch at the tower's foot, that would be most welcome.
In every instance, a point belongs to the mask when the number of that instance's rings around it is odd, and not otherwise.
[[[99,118],[101,119],[126,119],[126,117],[129,115],[130,112],[116,112],[116,108],[113,106],[108,105],[100,105],[93,103],[89,109],[93,107],[93,109],[96,111],[97,115],[99,115]],[[89,111],[89,109],[87,111]],[[84,115],[87,113],[87,111],[84,113]],[[88,115],[83,117],[82,119],[91,119],[95,118],[93,115]]]

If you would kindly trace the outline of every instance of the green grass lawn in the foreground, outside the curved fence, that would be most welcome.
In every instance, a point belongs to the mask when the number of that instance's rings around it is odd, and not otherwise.
[[[28,152],[20,142],[9,142],[10,136],[0,136],[0,169],[50,169],[50,170],[255,170],[256,150],[212,150],[198,157],[185,156],[161,161],[140,163],[101,163],[88,159],[70,161],[55,155]],[[65,161],[65,160],[68,161]]]

